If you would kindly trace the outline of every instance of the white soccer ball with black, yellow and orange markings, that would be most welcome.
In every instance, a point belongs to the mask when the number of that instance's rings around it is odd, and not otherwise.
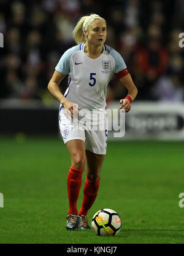
[[[112,209],[102,209],[92,218],[91,226],[98,236],[115,236],[120,231],[120,216]]]

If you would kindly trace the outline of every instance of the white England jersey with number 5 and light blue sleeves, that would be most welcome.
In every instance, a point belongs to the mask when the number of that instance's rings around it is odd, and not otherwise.
[[[69,74],[68,87],[64,93],[69,102],[77,103],[80,108],[105,111],[107,85],[114,73],[126,70],[126,65],[112,47],[103,45],[102,54],[92,59],[85,54],[84,45],[85,42],[66,50],[55,70]]]

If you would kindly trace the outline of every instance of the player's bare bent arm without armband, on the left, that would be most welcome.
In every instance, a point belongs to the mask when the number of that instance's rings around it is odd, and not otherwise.
[[[58,86],[59,82],[61,82],[65,76],[66,74],[59,73],[55,70],[47,87],[50,93],[64,106],[66,110],[66,116],[68,112],[67,110],[69,110],[71,112],[71,116],[73,117],[74,103],[69,102],[67,98],[64,97],[64,95],[61,93],[61,90],[59,90]]]

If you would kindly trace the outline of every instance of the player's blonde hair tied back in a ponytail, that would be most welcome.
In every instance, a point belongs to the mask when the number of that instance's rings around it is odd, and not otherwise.
[[[98,14],[90,14],[88,16],[83,16],[80,18],[79,22],[77,22],[77,25],[75,26],[73,31],[74,40],[75,42],[77,42],[77,44],[86,42],[86,37],[83,31],[87,30],[91,22],[93,22],[93,20],[96,20],[97,18],[104,20],[105,22],[105,19],[100,17]]]

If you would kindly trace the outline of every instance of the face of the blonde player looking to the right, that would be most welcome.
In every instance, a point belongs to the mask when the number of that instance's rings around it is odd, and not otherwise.
[[[107,26],[104,20],[96,19],[91,22],[86,31],[88,41],[96,46],[104,44],[107,37]]]

